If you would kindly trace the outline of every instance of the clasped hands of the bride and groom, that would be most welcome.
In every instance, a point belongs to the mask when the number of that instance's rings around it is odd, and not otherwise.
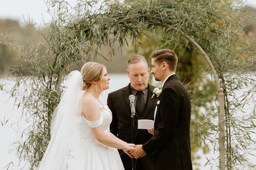
[[[125,147],[123,151],[131,158],[140,158],[146,156],[146,153],[143,150],[142,145],[128,143],[127,147]]]

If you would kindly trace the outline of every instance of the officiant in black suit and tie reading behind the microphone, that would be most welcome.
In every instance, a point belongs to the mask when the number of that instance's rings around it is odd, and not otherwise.
[[[132,142],[132,124],[129,95],[135,96],[135,144],[147,142],[151,137],[147,130],[137,129],[137,120],[154,120],[154,110],[158,98],[153,95],[154,87],[149,82],[150,68],[147,65],[145,57],[135,55],[129,58],[126,73],[130,78],[130,83],[119,90],[109,93],[107,105],[112,111],[112,122],[110,131],[119,139]],[[125,170],[131,170],[131,157],[120,151],[120,156]],[[137,170],[150,170],[153,168],[152,160],[149,156],[138,158],[136,160]]]

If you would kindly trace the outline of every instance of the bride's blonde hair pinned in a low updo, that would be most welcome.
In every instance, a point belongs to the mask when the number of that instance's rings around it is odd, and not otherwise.
[[[87,90],[93,81],[99,81],[103,75],[105,66],[97,62],[87,62],[81,69],[83,77],[83,90]]]

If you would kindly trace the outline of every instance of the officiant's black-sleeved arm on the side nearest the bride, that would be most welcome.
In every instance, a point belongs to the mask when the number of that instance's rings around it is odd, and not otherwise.
[[[112,122],[110,124],[110,132],[113,133],[115,136],[117,136],[117,134],[118,134],[117,117],[116,117],[116,113],[115,113],[115,110],[114,110],[112,97],[111,97],[110,94],[107,96],[107,106],[110,108],[110,110],[112,112]]]

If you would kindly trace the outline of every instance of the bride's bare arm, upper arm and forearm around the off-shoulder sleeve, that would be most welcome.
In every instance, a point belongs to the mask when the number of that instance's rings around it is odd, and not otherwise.
[[[85,118],[90,122],[95,122],[99,120],[101,116],[101,109],[99,107],[99,103],[95,99],[84,98],[82,104],[82,113],[85,116]],[[114,147],[125,151],[129,151],[133,148],[126,142],[116,140],[111,136],[111,134],[105,133],[105,131],[102,129],[102,125],[92,127],[92,131],[97,141],[106,146]]]

